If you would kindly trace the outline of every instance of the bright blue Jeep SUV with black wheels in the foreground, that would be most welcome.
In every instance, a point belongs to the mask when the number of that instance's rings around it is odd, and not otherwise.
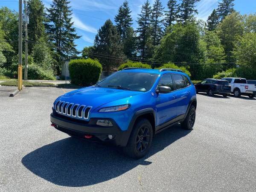
[[[192,129],[196,106],[195,86],[181,70],[126,68],[58,97],[51,122],[70,136],[110,142],[141,158],[158,132],[176,123]]]

